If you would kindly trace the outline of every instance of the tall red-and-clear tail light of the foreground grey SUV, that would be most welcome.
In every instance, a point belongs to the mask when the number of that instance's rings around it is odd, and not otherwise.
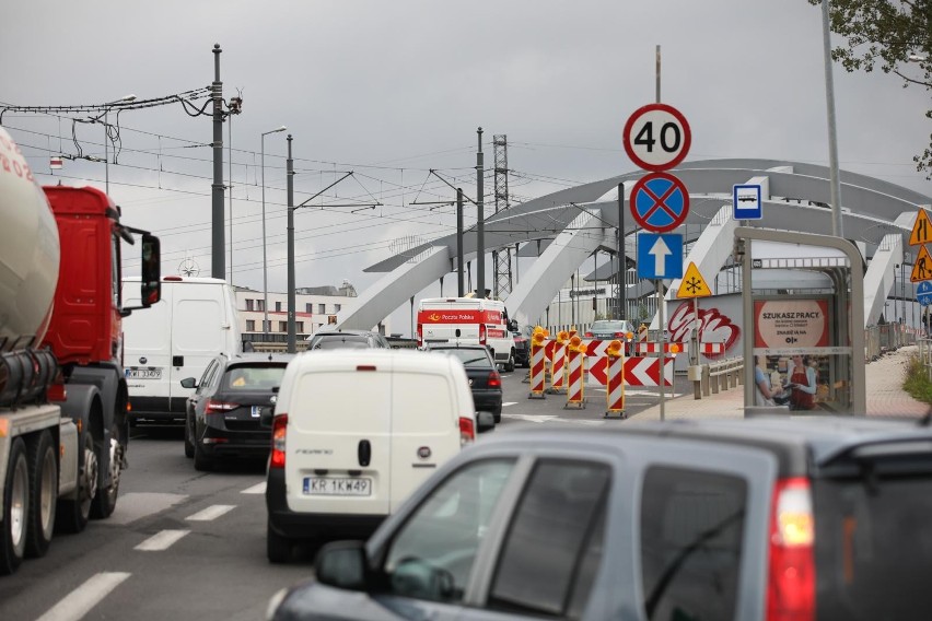
[[[815,525],[809,482],[782,479],[773,490],[767,621],[815,618]]]

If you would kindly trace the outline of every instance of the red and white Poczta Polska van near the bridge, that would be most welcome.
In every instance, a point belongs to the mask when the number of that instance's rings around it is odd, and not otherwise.
[[[500,300],[485,297],[424,297],[418,304],[418,347],[431,343],[488,345],[492,359],[514,371],[514,337]]]

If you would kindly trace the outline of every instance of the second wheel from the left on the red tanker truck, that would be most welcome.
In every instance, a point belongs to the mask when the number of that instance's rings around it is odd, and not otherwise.
[[[55,505],[58,501],[58,461],[51,434],[44,431],[28,447],[30,520],[26,529],[26,555],[44,556],[55,531]]]

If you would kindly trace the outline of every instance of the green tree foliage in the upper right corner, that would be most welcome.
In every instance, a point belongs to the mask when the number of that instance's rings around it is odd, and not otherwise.
[[[932,0],[808,0],[829,3],[829,27],[846,38],[831,58],[849,72],[870,73],[879,66],[909,85],[932,91]],[[925,112],[932,119],[932,108]],[[932,133],[912,159],[932,179]]]

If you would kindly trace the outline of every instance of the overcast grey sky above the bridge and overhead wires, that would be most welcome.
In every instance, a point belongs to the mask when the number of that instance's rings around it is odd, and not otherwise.
[[[295,203],[354,172],[295,212],[298,285],[346,279],[362,291],[380,278],[362,270],[405,238],[455,231],[452,208],[417,203],[453,196],[430,169],[475,195],[480,126],[487,171],[492,137],[506,136],[513,200],[636,169],[621,130],[655,101],[657,45],[661,99],[692,129],[688,161],[827,165],[820,20],[805,0],[31,0],[3,10],[0,102],[100,104],[207,86],[220,44],[224,96],[243,97],[232,122],[233,282],[263,289],[260,134],[286,125],[265,138],[269,290],[286,289],[290,133]],[[841,168],[932,195],[912,163],[929,144],[929,92],[882,72],[834,75]],[[48,167],[50,154],[77,152],[71,121],[7,113],[3,125],[40,183],[103,188],[103,164]],[[100,125],[74,131],[82,153],[103,156]],[[174,104],[123,113],[119,131],[108,176],[124,221],[162,237],[163,272],[190,258],[210,276],[211,118]],[[485,190],[491,213],[490,176]],[[330,207],[373,202],[382,206]],[[225,260],[229,269],[229,249]]]

